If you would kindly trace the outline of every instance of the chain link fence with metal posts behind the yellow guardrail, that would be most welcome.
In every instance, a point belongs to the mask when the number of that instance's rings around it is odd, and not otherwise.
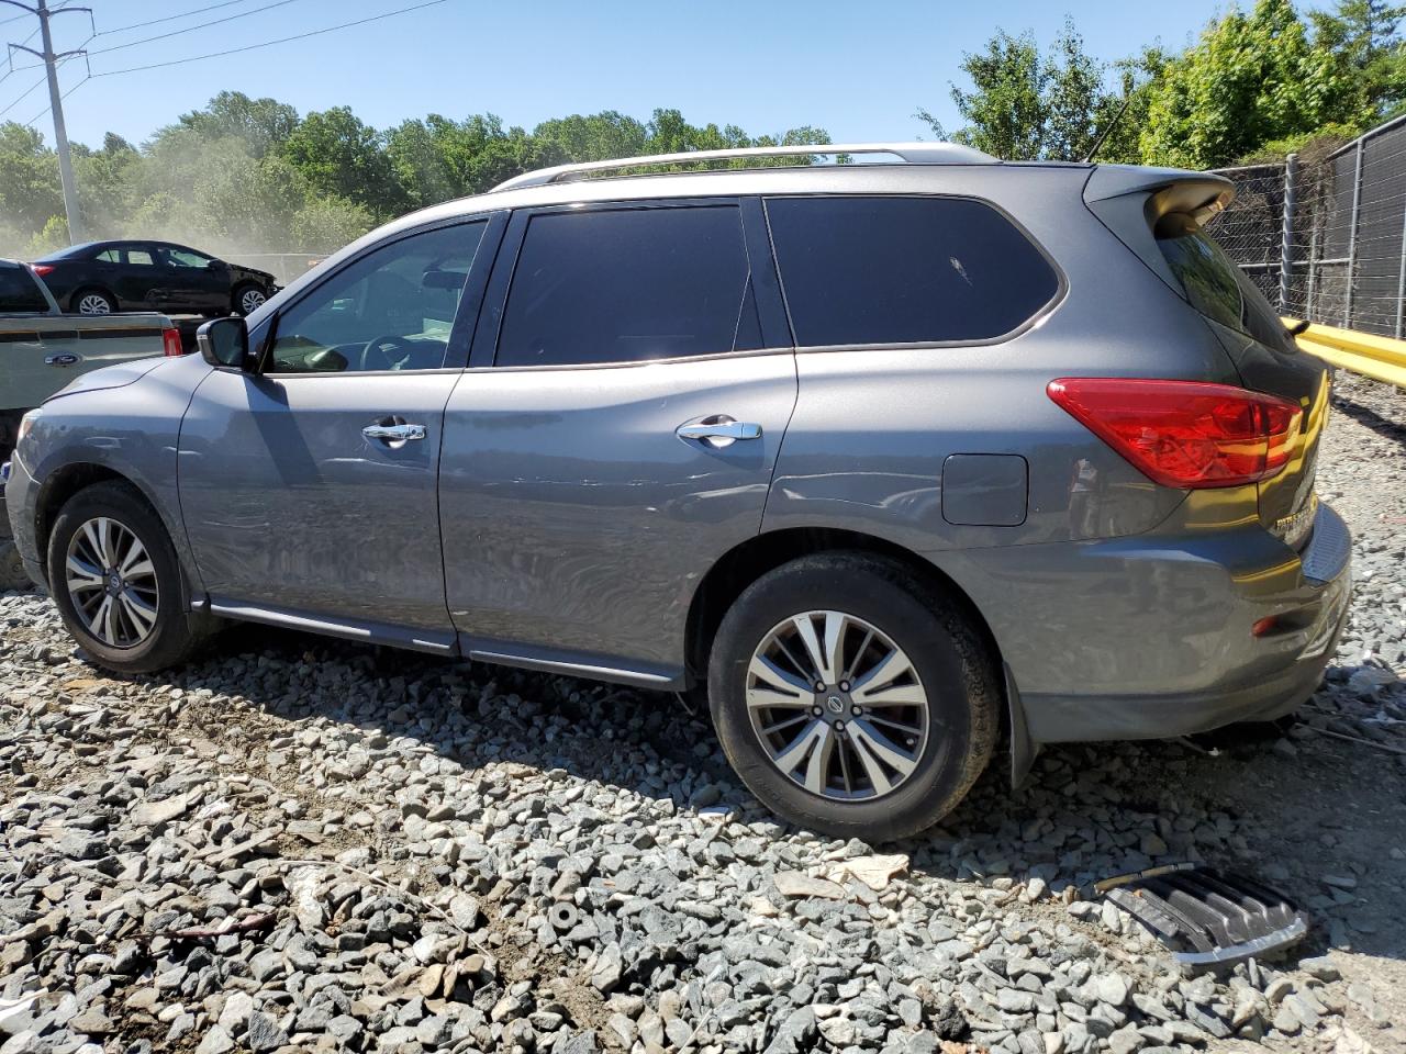
[[[1208,229],[1284,315],[1403,337],[1406,118],[1317,159],[1220,169]]]

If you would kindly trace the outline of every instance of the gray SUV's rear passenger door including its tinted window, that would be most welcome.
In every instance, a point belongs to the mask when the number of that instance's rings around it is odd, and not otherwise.
[[[678,683],[689,599],[759,530],[796,402],[759,207],[515,212],[471,365],[440,467],[461,648]]]

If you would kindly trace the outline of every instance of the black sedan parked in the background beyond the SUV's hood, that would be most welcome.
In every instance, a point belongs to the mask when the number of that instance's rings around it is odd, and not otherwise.
[[[173,242],[84,242],[41,256],[34,270],[73,315],[249,315],[278,289],[267,271]]]

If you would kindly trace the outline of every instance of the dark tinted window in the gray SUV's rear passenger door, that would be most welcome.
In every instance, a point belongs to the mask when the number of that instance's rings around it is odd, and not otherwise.
[[[557,212],[527,225],[496,364],[636,363],[761,340],[737,207]]]

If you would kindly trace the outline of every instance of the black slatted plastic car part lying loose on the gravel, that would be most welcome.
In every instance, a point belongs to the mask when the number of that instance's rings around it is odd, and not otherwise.
[[[1201,864],[1152,867],[1094,885],[1163,939],[1188,967],[1226,967],[1278,951],[1309,932],[1308,916],[1279,892]]]

